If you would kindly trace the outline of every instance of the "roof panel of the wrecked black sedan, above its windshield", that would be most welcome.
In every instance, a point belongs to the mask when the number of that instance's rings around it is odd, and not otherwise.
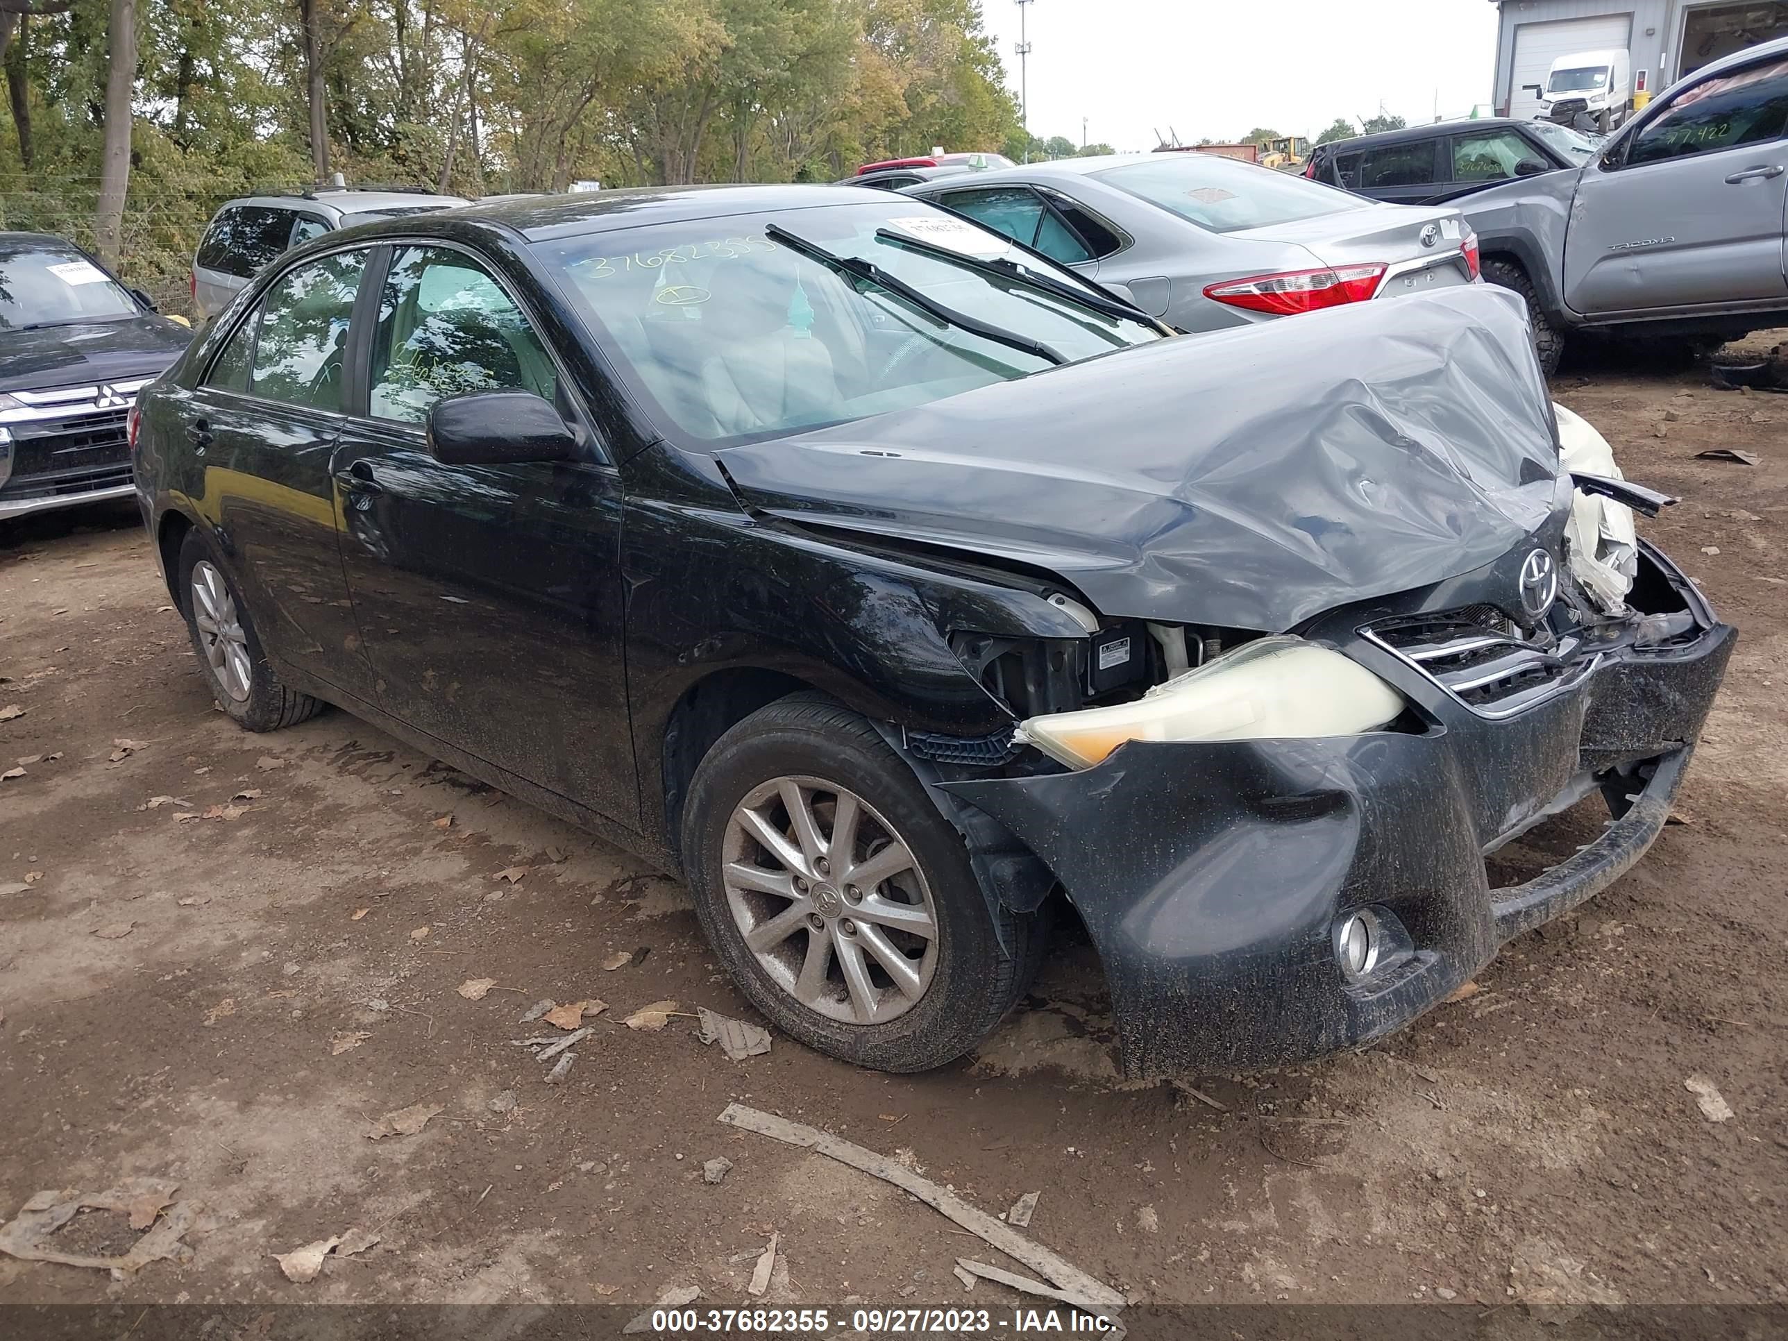
[[[529,241],[574,238],[585,232],[613,232],[640,224],[681,224],[730,215],[762,215],[819,206],[860,206],[860,186],[642,186],[552,195],[538,200],[504,200],[492,206],[467,206],[451,211],[454,222],[497,224],[515,229]],[[393,220],[397,224],[399,220]],[[417,215],[401,224],[409,227],[447,225],[442,215]]]

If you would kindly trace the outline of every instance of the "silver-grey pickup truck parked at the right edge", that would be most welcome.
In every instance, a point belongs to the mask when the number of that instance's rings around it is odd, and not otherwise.
[[[1788,39],[1702,66],[1579,168],[1448,197],[1552,372],[1579,331],[1722,343],[1788,325]]]

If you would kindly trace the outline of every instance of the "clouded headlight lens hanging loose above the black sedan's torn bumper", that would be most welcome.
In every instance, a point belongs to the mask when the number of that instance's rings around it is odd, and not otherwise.
[[[1402,710],[1402,696],[1357,662],[1273,637],[1155,685],[1135,703],[1032,717],[1019,738],[1069,769],[1091,769],[1126,740],[1359,735]]]

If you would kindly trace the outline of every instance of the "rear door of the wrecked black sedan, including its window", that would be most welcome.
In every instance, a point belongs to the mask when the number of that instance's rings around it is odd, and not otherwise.
[[[268,653],[372,697],[336,544],[329,458],[343,424],[349,318],[367,249],[281,275],[186,401],[216,526]]]

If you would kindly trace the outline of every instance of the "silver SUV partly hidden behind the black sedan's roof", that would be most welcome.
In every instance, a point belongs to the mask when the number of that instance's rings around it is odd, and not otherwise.
[[[231,200],[206,225],[193,256],[193,320],[220,311],[275,256],[324,232],[370,218],[427,215],[470,204],[429,191],[368,191],[318,186],[304,195]]]

